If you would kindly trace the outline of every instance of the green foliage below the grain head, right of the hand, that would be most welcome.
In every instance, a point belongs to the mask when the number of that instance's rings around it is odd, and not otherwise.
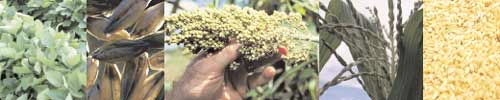
[[[272,82],[252,89],[246,94],[251,100],[318,100],[316,56],[297,64],[286,64],[286,70]]]

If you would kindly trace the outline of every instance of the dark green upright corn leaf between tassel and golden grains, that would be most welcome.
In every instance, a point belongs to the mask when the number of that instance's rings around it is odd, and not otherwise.
[[[419,100],[423,92],[423,10],[418,10],[404,24],[398,43],[397,77],[389,100]]]

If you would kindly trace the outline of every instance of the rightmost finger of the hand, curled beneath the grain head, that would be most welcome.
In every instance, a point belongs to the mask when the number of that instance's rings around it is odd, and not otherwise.
[[[276,75],[276,69],[272,66],[265,67],[262,73],[254,74],[248,78],[248,86],[255,88],[271,81]]]

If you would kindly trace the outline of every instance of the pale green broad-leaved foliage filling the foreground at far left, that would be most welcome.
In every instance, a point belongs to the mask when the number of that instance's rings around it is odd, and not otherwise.
[[[83,43],[35,16],[17,12],[20,6],[0,3],[0,98],[82,99]]]

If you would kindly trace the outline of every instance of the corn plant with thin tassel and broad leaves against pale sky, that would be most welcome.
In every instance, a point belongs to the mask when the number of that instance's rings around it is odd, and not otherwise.
[[[342,81],[356,78],[374,100],[418,100],[422,98],[422,9],[417,2],[407,22],[402,22],[401,0],[398,15],[394,4],[389,4],[389,29],[381,26],[377,9],[371,9],[374,20],[356,11],[350,0],[323,4],[325,20],[320,26],[320,67],[333,54],[345,66],[331,81],[320,88],[320,94]],[[396,19],[397,18],[397,19]],[[347,64],[335,49],[344,42],[349,47],[354,63]],[[390,51],[390,52],[386,52]],[[352,70],[357,67],[359,72]],[[344,76],[344,73],[352,75]]]

